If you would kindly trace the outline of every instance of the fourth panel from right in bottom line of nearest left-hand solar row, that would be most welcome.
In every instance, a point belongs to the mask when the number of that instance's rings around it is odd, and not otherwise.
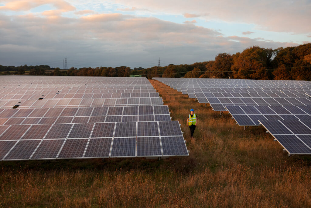
[[[84,157],[109,157],[112,138],[91,138]]]

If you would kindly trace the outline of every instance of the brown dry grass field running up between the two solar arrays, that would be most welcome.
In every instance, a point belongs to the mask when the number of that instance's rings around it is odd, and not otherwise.
[[[189,157],[0,162],[0,206],[311,206],[309,156],[288,157],[263,127],[244,131],[227,113],[150,81],[182,124]]]

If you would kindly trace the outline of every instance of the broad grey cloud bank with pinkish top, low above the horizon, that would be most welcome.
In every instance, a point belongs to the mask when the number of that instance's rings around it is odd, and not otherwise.
[[[0,20],[2,65],[37,65],[59,60],[59,63],[48,65],[62,67],[63,59],[67,57],[68,60],[79,61],[68,61],[68,68],[99,65],[146,68],[157,65],[159,56],[170,63],[192,64],[214,60],[218,53],[241,52],[253,45],[269,48],[297,45],[239,36],[225,37],[219,31],[195,24],[120,13],[90,14],[80,18],[58,16],[57,19],[35,14],[0,14]],[[153,59],[155,63],[145,65],[124,64]],[[96,63],[90,63],[92,61]]]

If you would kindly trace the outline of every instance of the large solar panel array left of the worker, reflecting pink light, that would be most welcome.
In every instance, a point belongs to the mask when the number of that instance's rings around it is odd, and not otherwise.
[[[178,121],[146,78],[1,76],[0,83],[0,160],[188,155]]]

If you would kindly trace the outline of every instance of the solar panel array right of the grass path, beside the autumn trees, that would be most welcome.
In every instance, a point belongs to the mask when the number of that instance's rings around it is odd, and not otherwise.
[[[229,111],[240,126],[264,126],[289,154],[311,154],[311,82],[153,78],[214,111]]]

